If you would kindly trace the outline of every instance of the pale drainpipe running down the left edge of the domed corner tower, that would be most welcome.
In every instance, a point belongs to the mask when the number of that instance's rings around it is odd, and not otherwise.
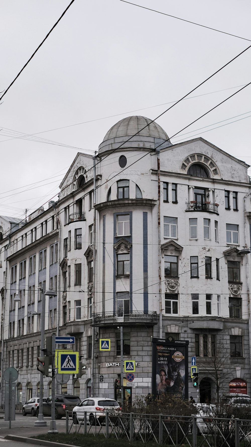
[[[96,278],[96,157],[93,160],[93,270],[92,270],[92,315],[95,314],[95,278]],[[95,326],[91,332],[91,397],[94,396],[94,347],[95,347]]]

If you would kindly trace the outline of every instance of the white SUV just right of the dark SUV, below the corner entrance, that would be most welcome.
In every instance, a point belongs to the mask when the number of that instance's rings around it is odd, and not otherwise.
[[[118,402],[108,397],[89,397],[72,410],[72,419],[74,423],[82,421],[86,411],[87,421],[90,425],[95,425],[95,419],[99,422],[106,417],[105,412],[119,412],[121,407]]]

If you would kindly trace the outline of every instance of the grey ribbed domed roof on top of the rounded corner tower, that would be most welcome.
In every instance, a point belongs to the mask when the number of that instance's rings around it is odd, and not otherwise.
[[[105,135],[103,141],[111,138],[132,136],[143,129],[152,120],[144,116],[128,116],[127,118],[121,119],[119,122],[114,124],[111,129]],[[169,141],[169,136],[165,133],[162,127],[156,122],[151,122],[143,131],[141,131],[139,136],[145,137],[155,137],[163,140]]]

